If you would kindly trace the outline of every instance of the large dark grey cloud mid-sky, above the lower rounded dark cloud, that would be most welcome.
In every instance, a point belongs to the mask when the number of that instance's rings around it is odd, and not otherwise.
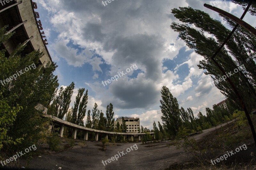
[[[158,58],[164,51],[164,39],[156,35],[136,34],[129,37],[117,37],[104,46],[106,51],[116,50],[113,62],[116,65],[136,63],[144,65],[145,78],[157,81],[161,78],[162,68]]]

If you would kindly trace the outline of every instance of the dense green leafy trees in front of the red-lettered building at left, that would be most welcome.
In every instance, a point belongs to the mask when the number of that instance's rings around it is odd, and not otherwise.
[[[5,35],[4,28],[0,29],[0,41],[6,41],[12,35],[12,33]],[[14,121],[9,117],[10,121],[8,118],[9,122],[3,124],[3,128],[7,131],[4,130],[1,135],[7,132],[7,139],[14,141],[18,139],[15,143],[11,142],[8,145],[2,143],[5,152],[16,152],[20,148],[28,148],[42,137],[41,132],[45,130],[43,125],[48,119],[42,117],[42,112],[36,110],[35,107],[37,104],[48,106],[59,86],[57,76],[53,75],[53,71],[57,67],[56,63],[46,63],[42,67],[39,65],[39,60],[43,53],[36,50],[24,56],[21,55],[24,47],[25,45],[19,45],[8,58],[4,56],[5,50],[0,52],[0,80],[9,78],[20,70],[23,72],[16,80],[13,79],[3,86],[1,85],[3,108],[7,106],[8,110],[11,108],[10,114],[12,114],[12,118],[16,119]],[[29,71],[24,71],[26,67],[33,64],[37,68],[33,67]],[[1,114],[9,115],[5,110],[1,111]],[[19,140],[22,138],[24,140]]]

